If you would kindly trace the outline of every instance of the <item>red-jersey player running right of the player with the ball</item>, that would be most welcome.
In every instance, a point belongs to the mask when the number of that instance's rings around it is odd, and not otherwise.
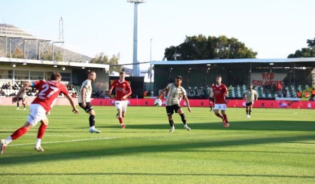
[[[223,121],[223,127],[229,127],[227,121],[227,116],[225,114],[226,110],[226,102],[225,102],[225,96],[228,96],[228,89],[227,87],[221,83],[222,77],[217,76],[217,83],[212,86],[213,89],[213,97],[215,99],[215,114]],[[219,113],[219,110],[221,110],[221,114]]]

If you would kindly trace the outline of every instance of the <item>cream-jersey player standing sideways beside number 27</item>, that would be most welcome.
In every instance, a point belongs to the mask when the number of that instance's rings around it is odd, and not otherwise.
[[[96,79],[96,73],[94,71],[88,70],[88,79],[84,80],[81,85],[81,93],[78,98],[78,102],[81,108],[85,110],[86,113],[89,113],[89,122],[90,122],[90,132],[91,133],[100,133],[95,129],[95,111],[91,105],[91,95],[92,95],[92,82]]]

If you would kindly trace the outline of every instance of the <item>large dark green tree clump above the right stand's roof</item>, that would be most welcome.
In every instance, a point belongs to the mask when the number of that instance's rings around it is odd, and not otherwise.
[[[255,58],[256,52],[236,38],[186,36],[184,43],[165,49],[167,60]]]

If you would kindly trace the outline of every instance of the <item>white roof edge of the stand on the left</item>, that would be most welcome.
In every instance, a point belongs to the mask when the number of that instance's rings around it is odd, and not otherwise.
[[[0,57],[0,64],[11,64],[11,63],[27,63],[30,65],[44,66],[44,65],[58,65],[64,66],[68,68],[99,68],[104,70],[109,70],[109,65],[105,64],[95,64],[95,63],[79,63],[79,62],[62,62],[62,61],[46,61],[46,60],[35,60],[35,59],[18,59],[18,58],[10,58],[10,57]]]

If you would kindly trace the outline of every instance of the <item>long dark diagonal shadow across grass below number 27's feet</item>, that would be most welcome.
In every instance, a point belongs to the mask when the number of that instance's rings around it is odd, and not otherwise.
[[[192,149],[216,149],[224,148],[228,146],[243,146],[243,145],[256,145],[256,144],[266,144],[266,143],[283,143],[283,142],[299,142],[303,140],[315,139],[314,135],[300,135],[291,137],[267,137],[267,138],[251,138],[251,139],[237,139],[237,140],[222,140],[222,141],[209,141],[209,142],[184,142],[178,144],[151,144],[136,145],[136,146],[126,146],[125,144],[119,145],[115,144],[115,147],[94,147],[98,149],[86,150],[86,142],[80,142],[76,147],[82,146],[85,150],[73,151],[69,149],[60,150],[60,153],[43,153],[38,155],[33,155],[32,157],[25,158],[24,156],[11,156],[6,157],[3,155],[0,157],[0,164],[27,164],[33,162],[46,162],[46,161],[58,161],[58,160],[72,160],[72,159],[86,159],[86,158],[98,158],[104,156],[128,156],[143,153],[162,153],[162,152],[182,152],[182,150],[192,150]],[[68,144],[68,143],[63,143]],[[70,143],[72,144],[72,143]],[[149,143],[148,143],[149,144]],[[61,148],[59,146],[57,148]],[[7,149],[10,149],[8,147]],[[56,149],[56,148],[55,148]],[[5,154],[5,153],[4,153]]]

